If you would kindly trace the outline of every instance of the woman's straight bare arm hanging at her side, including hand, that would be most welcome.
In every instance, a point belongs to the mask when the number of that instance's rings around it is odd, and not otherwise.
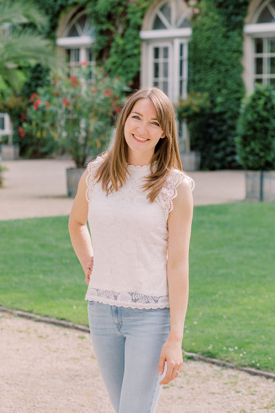
[[[170,304],[170,332],[162,347],[159,374],[163,373],[165,360],[167,371],[160,385],[174,380],[183,363],[181,343],[189,292],[189,243],[193,216],[192,190],[187,179],[177,188],[173,199],[174,208],[168,217],[167,282]]]

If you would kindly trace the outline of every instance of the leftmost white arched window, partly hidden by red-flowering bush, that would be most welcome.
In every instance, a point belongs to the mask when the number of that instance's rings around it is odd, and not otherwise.
[[[90,26],[89,16],[85,13],[85,10],[76,12],[66,24],[63,36],[56,40],[56,44],[66,52],[71,74],[75,67],[80,66],[82,62],[87,62],[89,66],[95,64],[90,47],[92,41],[93,28]]]

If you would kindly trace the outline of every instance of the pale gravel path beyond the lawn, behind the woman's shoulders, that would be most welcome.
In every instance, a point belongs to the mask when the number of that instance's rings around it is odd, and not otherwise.
[[[69,215],[73,199],[67,197],[66,168],[70,159],[3,161],[0,220]],[[223,204],[245,198],[244,171],[191,172],[196,187],[194,205]]]

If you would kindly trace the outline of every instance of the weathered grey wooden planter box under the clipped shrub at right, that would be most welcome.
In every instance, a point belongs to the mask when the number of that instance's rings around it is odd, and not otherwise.
[[[259,201],[261,172],[246,171],[246,200]],[[275,202],[275,171],[263,171],[263,201]]]

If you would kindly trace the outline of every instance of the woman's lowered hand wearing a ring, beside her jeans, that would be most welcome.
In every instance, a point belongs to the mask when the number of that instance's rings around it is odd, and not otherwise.
[[[167,370],[165,377],[160,382],[160,385],[167,385],[172,382],[172,380],[179,375],[176,371],[181,371],[181,366],[183,363],[181,341],[168,337],[166,342],[163,344],[160,353],[160,363],[158,365],[159,375],[162,375],[164,371],[165,361],[167,363]]]

